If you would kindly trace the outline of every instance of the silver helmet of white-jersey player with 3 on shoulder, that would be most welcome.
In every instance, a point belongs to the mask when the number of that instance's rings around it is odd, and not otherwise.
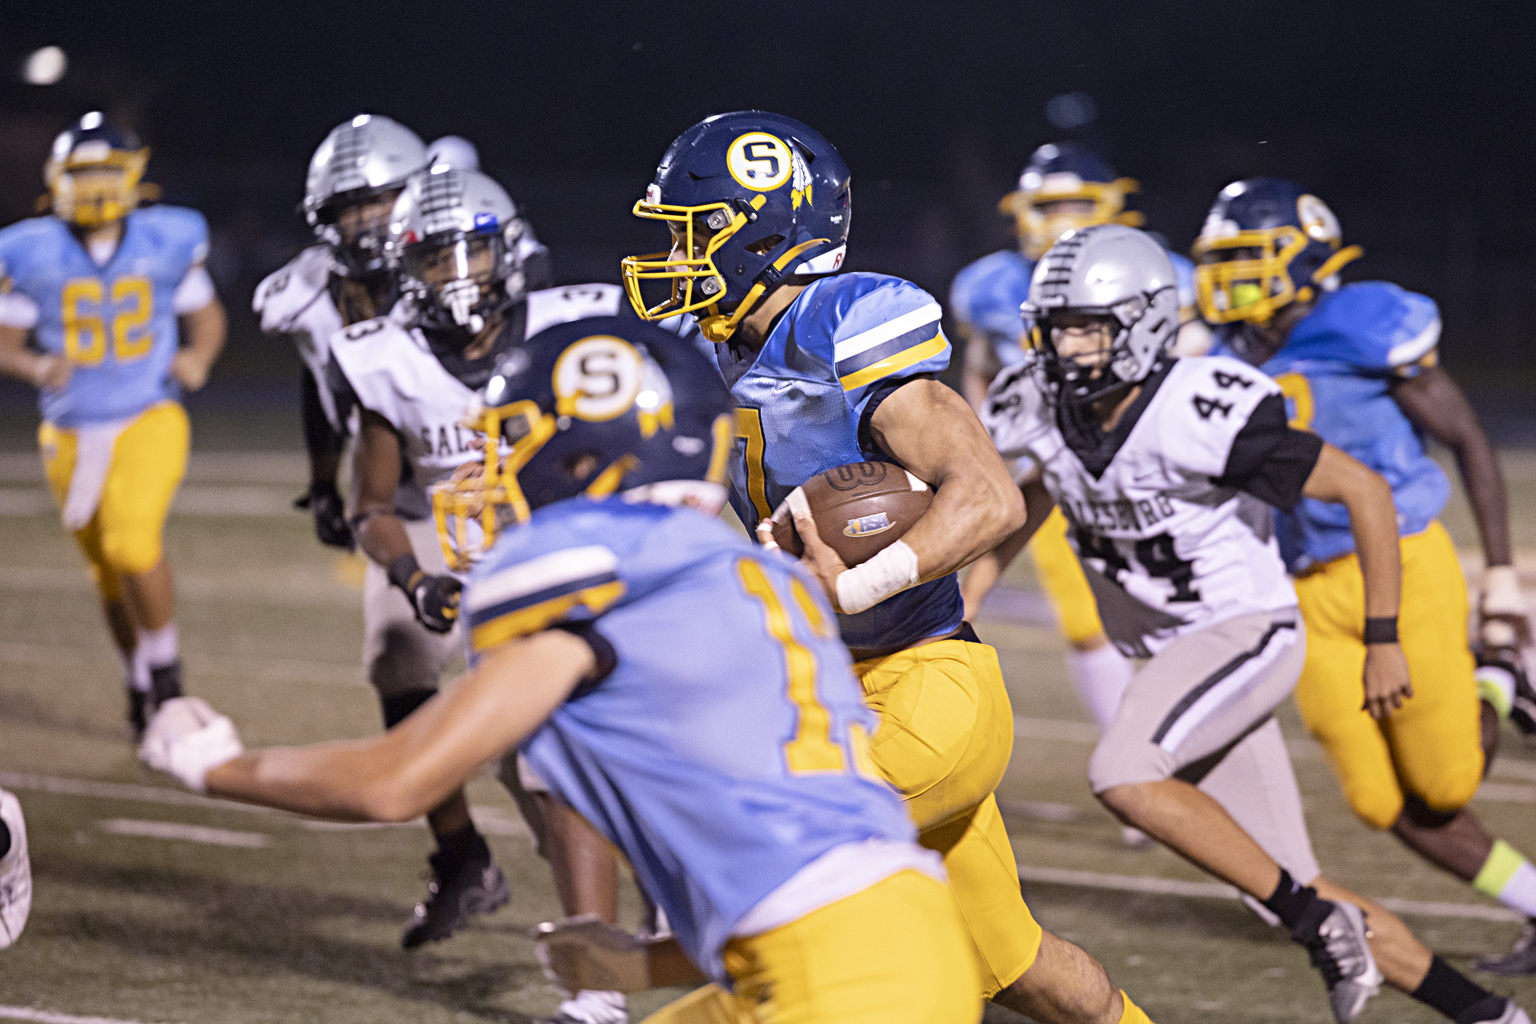
[[[492,178],[439,164],[406,183],[384,249],[418,324],[475,335],[527,295],[527,230]]]

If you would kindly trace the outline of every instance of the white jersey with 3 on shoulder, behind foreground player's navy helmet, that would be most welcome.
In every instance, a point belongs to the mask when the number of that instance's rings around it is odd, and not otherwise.
[[[616,284],[578,284],[530,292],[525,338],[545,327],[619,312],[624,289]],[[416,491],[430,508],[427,490],[465,462],[481,457],[472,445],[479,431],[464,425],[475,390],[449,373],[432,355],[419,329],[396,313],[344,327],[330,338],[330,358],[346,375],[358,404],[395,428],[410,465],[402,490]],[[398,502],[401,504],[401,502]]]

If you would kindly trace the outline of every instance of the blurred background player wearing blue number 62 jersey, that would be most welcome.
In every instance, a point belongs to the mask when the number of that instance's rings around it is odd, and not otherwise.
[[[224,345],[207,223],[138,209],[147,161],[132,132],[86,114],[43,169],[52,212],[0,230],[0,373],[40,390],[48,482],[126,665],[135,735],[146,705],[181,694],[163,534],[190,439],[180,398]]]

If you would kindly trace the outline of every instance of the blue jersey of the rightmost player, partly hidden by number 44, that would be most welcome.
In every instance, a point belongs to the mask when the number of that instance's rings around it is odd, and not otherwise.
[[[1450,499],[1450,482],[1392,398],[1392,382],[1433,365],[1441,319],[1435,301],[1385,281],[1326,292],[1263,365],[1275,378],[1290,425],[1312,430],[1392,485],[1402,536],[1427,528]],[[1344,505],[1301,499],[1278,513],[1286,567],[1299,573],[1355,550]]]

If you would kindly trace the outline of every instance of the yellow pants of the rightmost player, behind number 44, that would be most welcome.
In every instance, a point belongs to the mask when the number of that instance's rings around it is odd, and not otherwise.
[[[1359,559],[1333,559],[1296,580],[1307,623],[1307,662],[1296,706],[1322,743],[1350,806],[1385,829],[1410,792],[1435,811],[1456,811],[1482,780],[1473,657],[1467,649],[1467,582],[1438,522],[1402,537],[1398,637],[1413,695],[1385,722],[1362,711],[1366,585]]]

